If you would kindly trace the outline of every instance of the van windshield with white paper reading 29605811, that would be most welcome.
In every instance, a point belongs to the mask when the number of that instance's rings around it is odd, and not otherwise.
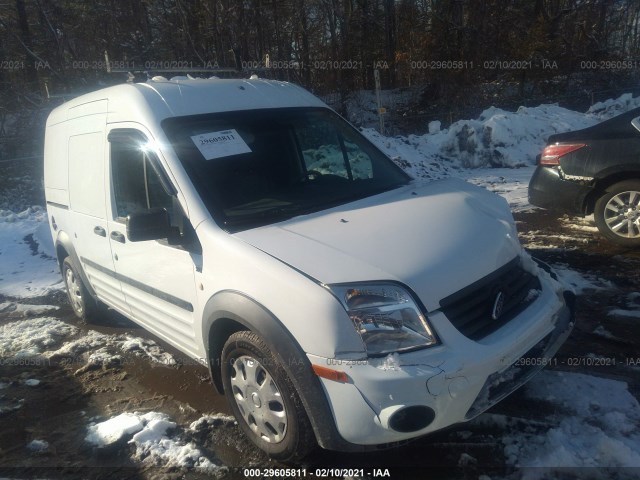
[[[326,108],[173,117],[162,127],[212,216],[231,232],[324,210],[411,180]]]

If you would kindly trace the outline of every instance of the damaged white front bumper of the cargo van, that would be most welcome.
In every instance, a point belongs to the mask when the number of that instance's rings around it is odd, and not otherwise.
[[[478,342],[462,336],[438,313],[430,321],[442,345],[397,355],[395,362],[309,355],[311,363],[349,377],[346,383],[321,378],[340,435],[367,446],[419,437],[473,418],[527,382],[573,327],[573,302],[550,278],[541,280],[537,301]],[[529,358],[538,360],[524,361]],[[403,427],[411,426],[406,417],[414,413],[420,416],[416,429],[399,431],[393,419],[404,417]]]

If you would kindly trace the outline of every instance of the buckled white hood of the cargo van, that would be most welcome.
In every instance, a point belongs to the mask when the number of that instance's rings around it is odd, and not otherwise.
[[[234,236],[324,284],[401,282],[429,311],[521,251],[507,202],[458,179],[410,184]]]

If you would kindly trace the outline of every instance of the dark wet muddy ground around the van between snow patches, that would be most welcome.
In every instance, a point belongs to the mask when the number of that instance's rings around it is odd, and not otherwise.
[[[541,211],[517,214],[516,220],[521,240],[533,255],[616,287],[579,292],[575,329],[558,354],[557,365],[551,368],[623,380],[640,398],[640,370],[632,365],[640,357],[638,319],[608,315],[614,307],[627,308],[629,295],[640,291],[640,250],[605,243],[587,220],[558,219]],[[0,298],[0,303],[6,300]],[[113,334],[133,331],[136,336],[152,338],[124,319],[116,318],[114,326],[80,324],[62,292],[29,299],[28,303],[59,305],[61,308],[53,316],[83,331],[89,328]],[[16,320],[11,314],[0,315],[0,325]],[[599,329],[604,319],[606,330]],[[170,346],[158,343],[176,358],[182,357]],[[593,365],[588,360],[589,354],[615,359],[615,365],[613,361]],[[0,390],[0,402],[16,406],[15,410],[0,414],[0,477],[205,478],[195,471],[135,462],[128,445],[100,449],[84,441],[91,419],[105,419],[125,411],[168,414],[183,429],[183,435],[196,442],[208,458],[229,467],[218,472],[221,478],[247,478],[244,467],[282,466],[256,450],[233,421],[221,419],[198,431],[186,428],[203,414],[229,413],[224,398],[214,392],[202,366],[161,365],[134,355],[125,355],[121,362],[95,369],[84,368],[73,358],[34,363],[0,362],[0,383],[11,385],[10,389]],[[41,382],[29,386],[24,382],[29,378]],[[545,405],[532,408],[516,392],[491,412],[515,419],[544,418]],[[26,450],[25,445],[35,438],[47,438],[50,448],[41,453]],[[464,454],[474,461],[461,462]],[[451,478],[452,472],[458,478],[478,478],[480,474],[509,473],[500,432],[481,423],[456,426],[400,448],[370,454],[318,451],[308,458],[305,466],[389,469],[391,478],[426,478],[425,475]]]

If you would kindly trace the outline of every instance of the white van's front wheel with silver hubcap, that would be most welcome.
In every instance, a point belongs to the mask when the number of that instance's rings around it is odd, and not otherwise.
[[[315,446],[300,397],[262,338],[236,332],[222,350],[224,392],[238,424],[272,458],[301,460]]]

